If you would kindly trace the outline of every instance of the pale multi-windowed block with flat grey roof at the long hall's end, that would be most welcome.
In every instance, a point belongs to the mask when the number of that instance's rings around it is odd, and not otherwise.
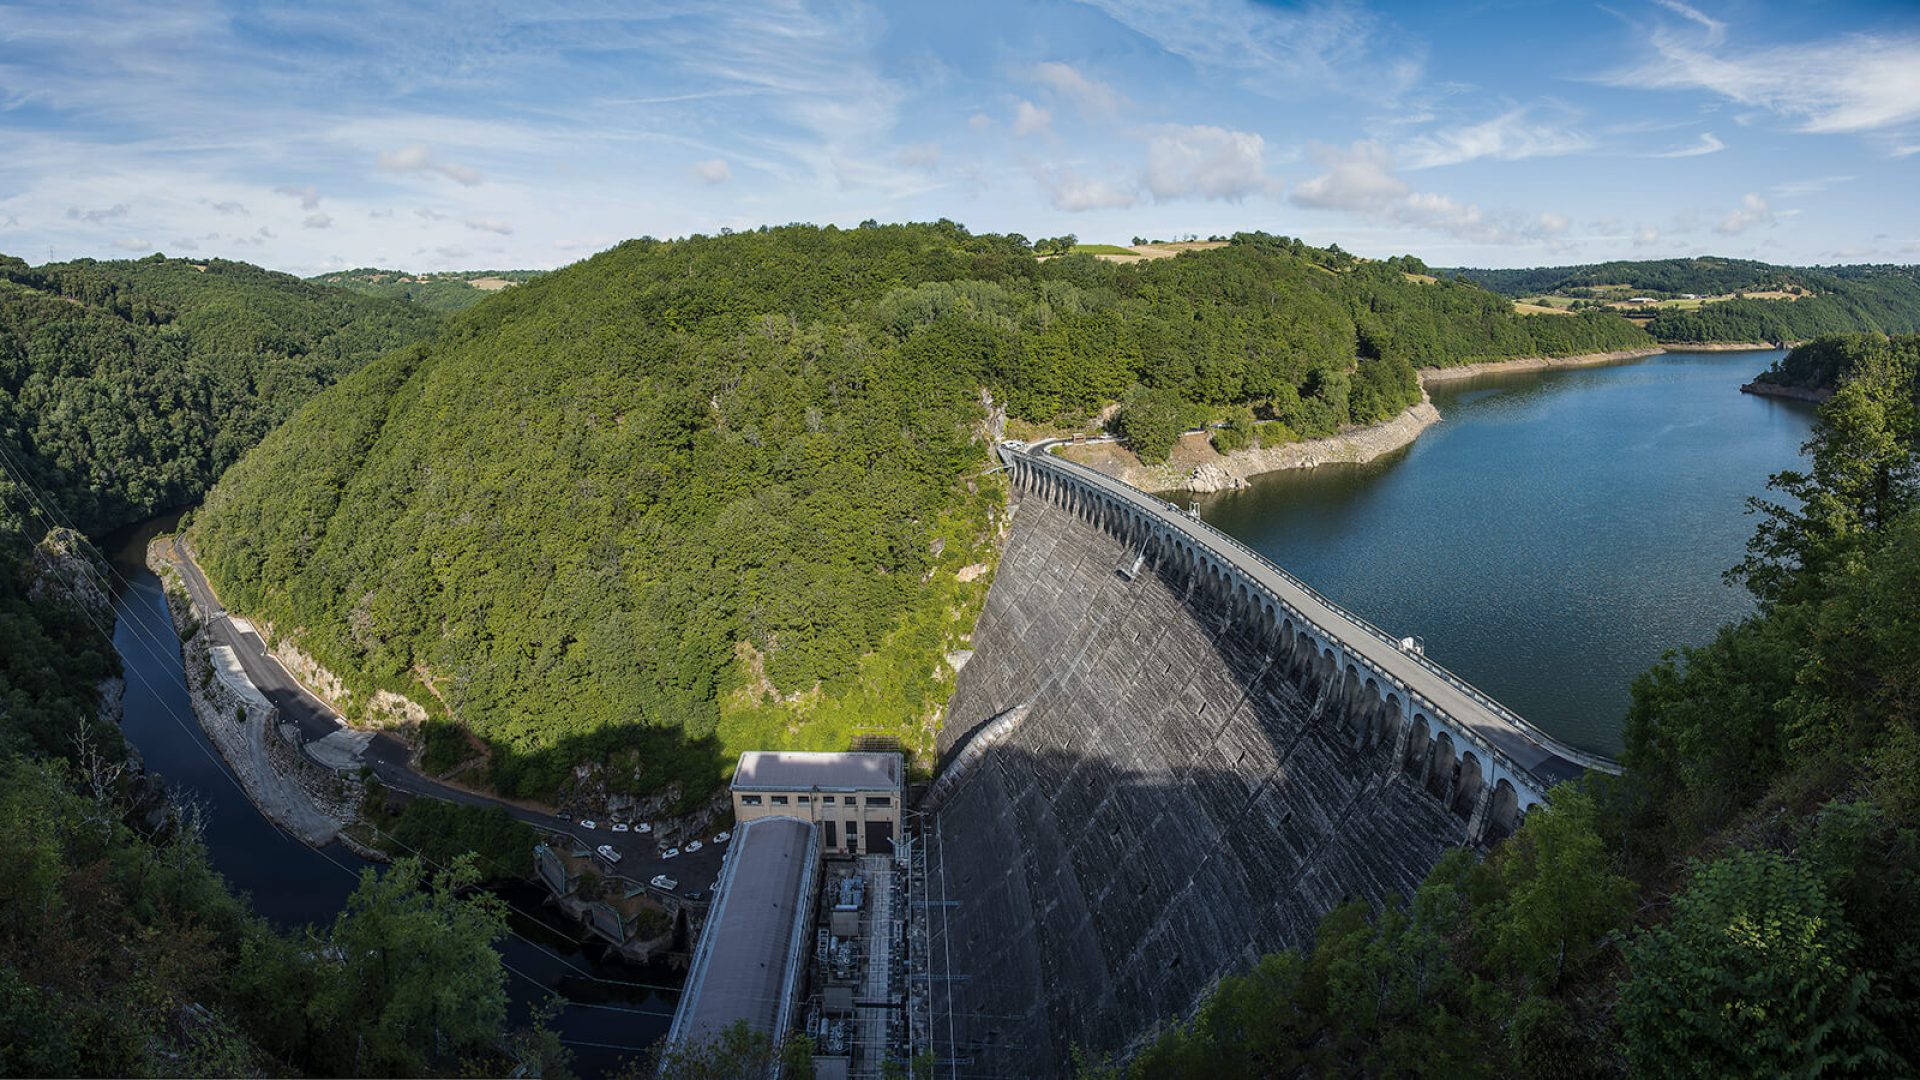
[[[814,822],[826,855],[893,853],[904,799],[906,759],[899,753],[755,749],[733,773],[733,821]]]

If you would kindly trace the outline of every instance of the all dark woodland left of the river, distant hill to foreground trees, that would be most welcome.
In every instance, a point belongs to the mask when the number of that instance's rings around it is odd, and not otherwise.
[[[198,498],[321,386],[434,321],[242,263],[0,259],[0,1074],[488,1074],[501,903],[403,863],[278,932],[127,763],[111,578],[84,536]]]

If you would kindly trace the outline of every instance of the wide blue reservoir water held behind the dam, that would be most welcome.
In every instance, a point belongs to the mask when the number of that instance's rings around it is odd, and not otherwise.
[[[1273,473],[1200,513],[1548,732],[1617,753],[1628,688],[1751,611],[1722,582],[1747,496],[1812,407],[1741,394],[1778,352],[1432,386],[1444,423],[1367,465]]]

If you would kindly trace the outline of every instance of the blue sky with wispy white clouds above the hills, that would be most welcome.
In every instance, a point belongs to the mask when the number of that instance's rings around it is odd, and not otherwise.
[[[1920,6],[0,0],[0,252],[553,267],[952,217],[1920,261]]]

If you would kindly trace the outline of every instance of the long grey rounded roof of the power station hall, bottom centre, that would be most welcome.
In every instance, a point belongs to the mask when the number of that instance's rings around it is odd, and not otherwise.
[[[670,1043],[708,1040],[739,1020],[774,1040],[785,1034],[806,969],[818,865],[812,822],[762,817],[733,830]]]

